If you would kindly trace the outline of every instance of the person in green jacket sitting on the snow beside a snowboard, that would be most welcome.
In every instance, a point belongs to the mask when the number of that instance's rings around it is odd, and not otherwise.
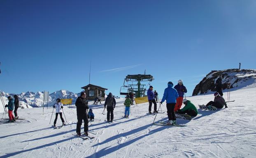
[[[198,110],[195,108],[195,105],[191,103],[191,101],[184,98],[182,102],[185,104],[184,108],[178,110],[176,113],[189,114],[191,117],[195,117],[198,114]]]

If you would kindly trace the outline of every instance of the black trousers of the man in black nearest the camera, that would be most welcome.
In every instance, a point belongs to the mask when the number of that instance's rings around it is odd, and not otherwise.
[[[81,132],[82,121],[84,120],[84,132],[88,131],[88,117],[86,108],[77,108],[77,133]]]

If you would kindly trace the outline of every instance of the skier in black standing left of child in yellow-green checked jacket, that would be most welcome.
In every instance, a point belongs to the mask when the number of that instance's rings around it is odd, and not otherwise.
[[[112,93],[109,93],[107,95],[107,98],[106,98],[106,101],[105,101],[105,104],[104,104],[104,108],[106,108],[106,106],[107,106],[107,121],[108,122],[113,122],[113,119],[114,119],[113,111],[114,111],[114,108],[116,107],[116,99],[114,98]]]

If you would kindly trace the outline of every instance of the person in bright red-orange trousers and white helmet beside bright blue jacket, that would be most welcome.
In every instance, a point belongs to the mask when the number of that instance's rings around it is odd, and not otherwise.
[[[183,101],[183,96],[184,93],[187,92],[186,87],[183,85],[182,80],[178,80],[178,84],[174,86],[174,88],[177,90],[179,97],[176,100],[176,105],[174,108],[174,111],[176,112],[182,107],[182,101]]]

